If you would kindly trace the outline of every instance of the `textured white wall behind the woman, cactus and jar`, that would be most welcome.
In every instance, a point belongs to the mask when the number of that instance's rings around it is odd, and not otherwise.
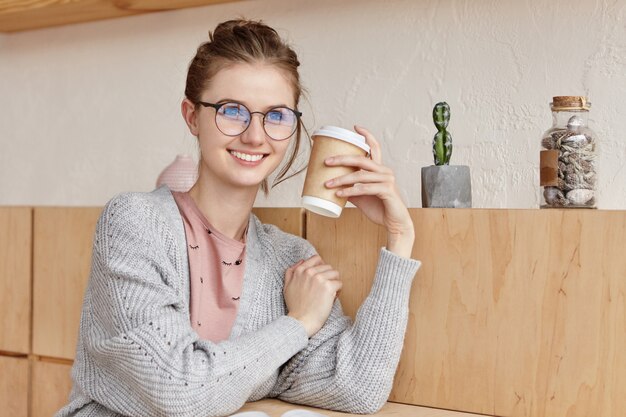
[[[432,164],[434,103],[475,207],[539,203],[553,95],[588,95],[599,207],[626,208],[626,0],[257,0],[0,37],[0,205],[102,205],[150,190],[177,153],[186,67],[207,31],[262,18],[296,47],[311,127],[361,124],[408,204]],[[297,206],[302,177],[259,205]]]

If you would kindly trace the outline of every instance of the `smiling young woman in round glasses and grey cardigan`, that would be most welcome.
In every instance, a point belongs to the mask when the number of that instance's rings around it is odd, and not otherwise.
[[[359,169],[326,185],[388,234],[354,323],[336,298],[339,273],[251,212],[259,187],[286,159],[284,179],[298,151],[298,65],[260,22],[222,23],[198,48],[182,102],[198,181],[105,206],[59,416],[224,416],[264,397],[372,413],[387,400],[419,262],[378,142],[356,128],[371,159],[326,161]]]

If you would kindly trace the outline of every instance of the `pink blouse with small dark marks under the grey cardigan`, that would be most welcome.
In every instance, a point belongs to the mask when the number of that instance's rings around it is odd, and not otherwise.
[[[237,317],[246,244],[215,230],[189,193],[172,194],[187,237],[191,326],[202,339],[226,340]]]

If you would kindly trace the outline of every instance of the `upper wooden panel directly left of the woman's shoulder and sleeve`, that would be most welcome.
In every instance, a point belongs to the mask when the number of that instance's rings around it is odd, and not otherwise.
[[[33,353],[73,359],[102,208],[36,207]]]

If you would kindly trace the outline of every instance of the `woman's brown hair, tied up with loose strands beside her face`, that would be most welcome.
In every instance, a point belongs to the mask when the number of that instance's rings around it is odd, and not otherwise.
[[[282,69],[291,83],[296,109],[298,108],[300,96],[303,94],[298,74],[300,65],[298,56],[280,38],[276,30],[261,21],[245,19],[220,23],[213,33],[209,32],[209,41],[198,47],[196,56],[189,64],[185,96],[198,106],[202,92],[208,88],[215,74],[230,65],[242,62],[249,64],[263,62]],[[296,143],[287,158],[287,163],[278,172],[272,188],[304,170],[301,168],[287,176],[300,149],[302,130],[308,136],[306,128],[299,122]],[[267,195],[269,192],[267,179],[261,183],[261,189]]]

